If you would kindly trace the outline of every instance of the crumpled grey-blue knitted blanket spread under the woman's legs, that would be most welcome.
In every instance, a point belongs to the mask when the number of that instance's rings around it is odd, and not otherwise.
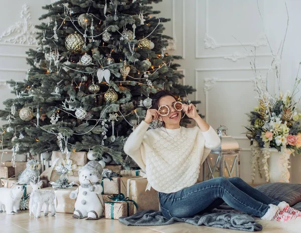
[[[167,219],[161,211],[143,210],[132,216],[120,217],[119,221],[126,225],[169,225],[175,222],[187,222],[193,225],[206,225],[234,230],[260,231],[262,225],[250,215],[238,213],[235,210],[217,210],[194,217]]]

